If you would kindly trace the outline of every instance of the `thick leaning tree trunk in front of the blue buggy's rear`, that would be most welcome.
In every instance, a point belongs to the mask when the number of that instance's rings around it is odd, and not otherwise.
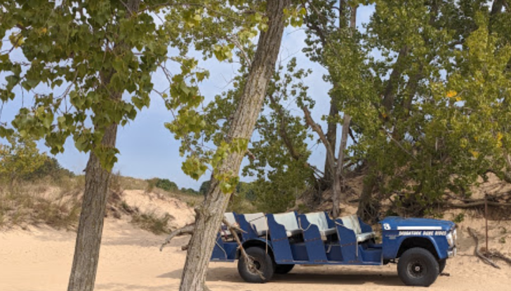
[[[268,28],[260,34],[246,85],[227,133],[228,142],[251,138],[279,55],[284,32],[284,8],[290,2],[291,0],[267,1]],[[230,198],[230,194],[223,194],[220,190],[220,183],[215,175],[227,172],[237,175],[243,156],[243,153],[232,152],[223,160],[223,164],[211,175],[211,185],[204,202],[195,209],[195,230],[190,238],[180,291],[208,290],[205,287],[206,270]]]

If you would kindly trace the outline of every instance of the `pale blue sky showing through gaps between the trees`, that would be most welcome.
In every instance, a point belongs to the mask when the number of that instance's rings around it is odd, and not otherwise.
[[[373,12],[372,6],[362,6],[357,12],[357,27],[362,27],[363,23],[369,21],[369,17]],[[331,84],[323,81],[323,75],[326,70],[311,62],[302,52],[305,47],[305,30],[288,27],[284,32],[279,54],[279,62],[286,63],[291,57],[297,58],[298,67],[303,69],[312,69],[312,74],[305,79],[305,84],[309,86],[309,95],[316,101],[312,117],[326,130],[326,123],[321,121],[321,116],[328,114],[330,108],[330,100],[328,98],[328,90]],[[5,47],[4,47],[5,48]],[[201,55],[195,53],[192,55],[201,60]],[[219,95],[225,90],[231,88],[230,80],[237,73],[237,65],[229,62],[218,62],[216,60],[207,60],[199,62],[200,67],[204,67],[210,71],[210,78],[201,83],[201,93],[206,97],[206,102],[212,100],[215,95]],[[164,74],[155,72],[152,76],[155,88],[165,84]],[[0,80],[4,76],[0,75]],[[168,86],[168,85],[167,85]],[[20,91],[16,92],[15,102],[10,102],[4,106],[1,111],[0,121],[8,122],[21,107],[22,100]],[[142,109],[134,121],[128,123],[124,127],[119,127],[117,135],[117,148],[120,151],[119,161],[114,166],[114,172],[120,172],[121,175],[137,177],[141,179],[150,179],[152,177],[169,179],[179,187],[199,189],[202,182],[209,180],[211,172],[206,172],[198,181],[193,180],[183,173],[181,163],[184,158],[179,155],[180,141],[175,140],[173,135],[164,127],[164,123],[171,121],[171,113],[164,106],[161,98],[153,94],[151,96],[151,104],[149,108]],[[26,93],[24,100],[27,98]],[[300,114],[300,112],[296,112]],[[303,115],[303,114],[300,114]],[[338,135],[340,135],[340,126],[338,127]],[[256,138],[256,137],[254,137]],[[4,141],[0,141],[5,142]],[[48,148],[44,142],[39,142],[38,147],[41,151],[47,151]],[[336,147],[338,148],[338,146]],[[310,141],[310,163],[322,169],[324,166],[324,158],[326,150],[322,144],[317,144],[315,140]],[[55,156],[59,163],[77,174],[83,174],[88,160],[88,154],[80,153],[74,148],[72,138],[69,138],[65,144],[65,152]],[[247,161],[244,160],[243,165]],[[251,181],[251,177],[240,177],[241,181]]]

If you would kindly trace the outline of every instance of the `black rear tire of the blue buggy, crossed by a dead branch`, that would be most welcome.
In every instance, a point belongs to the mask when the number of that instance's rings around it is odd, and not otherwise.
[[[248,248],[246,254],[253,259],[255,267],[262,273],[263,278],[255,270],[248,267],[246,260],[240,257],[238,260],[238,273],[248,283],[266,283],[274,273],[273,260],[262,248]]]

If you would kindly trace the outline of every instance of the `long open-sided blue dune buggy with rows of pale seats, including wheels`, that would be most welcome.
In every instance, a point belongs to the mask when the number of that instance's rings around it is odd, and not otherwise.
[[[456,226],[438,219],[387,217],[382,243],[371,226],[357,216],[330,219],[325,212],[298,215],[225,213],[253,264],[241,259],[232,233],[225,226],[216,238],[212,262],[238,261],[238,271],[250,283],[265,283],[274,273],[288,273],[296,264],[380,266],[397,263],[406,285],[429,286],[456,255]],[[256,268],[257,270],[255,270]]]

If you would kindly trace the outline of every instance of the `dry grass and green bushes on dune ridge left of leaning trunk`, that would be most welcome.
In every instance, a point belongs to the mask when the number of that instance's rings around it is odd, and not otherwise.
[[[0,229],[47,224],[55,229],[76,230],[84,183],[84,175],[62,168],[55,158],[41,153],[32,140],[15,137],[8,144],[0,144]],[[173,219],[170,214],[142,212],[122,200],[122,192],[131,189],[179,198],[190,206],[201,199],[197,191],[181,191],[177,185],[169,188],[168,184],[175,185],[167,179],[142,180],[117,173],[110,180],[107,216],[129,215],[131,222],[142,229],[168,233],[168,222]]]

